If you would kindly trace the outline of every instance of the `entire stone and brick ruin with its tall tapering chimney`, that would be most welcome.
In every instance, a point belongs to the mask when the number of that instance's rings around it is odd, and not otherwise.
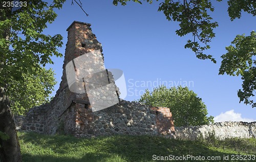
[[[76,69],[95,70],[84,68],[86,64],[100,65],[100,70],[105,70],[104,65],[102,65],[104,58],[101,43],[97,41],[90,26],[89,23],[78,21],[74,21],[69,26],[62,80],[55,97],[50,103],[31,108],[25,117],[16,116],[16,129],[45,134],[73,134],[75,137],[114,134],[149,134],[152,136],[163,134],[164,136],[172,136],[175,129],[169,108],[152,107],[120,99],[119,89],[115,86],[113,75],[108,70],[104,75],[108,77],[108,82],[111,84],[110,88],[115,89],[114,93],[111,94],[115,99],[103,98],[102,96],[100,99],[102,102],[117,100],[117,104],[99,111],[92,111],[95,105],[90,103],[89,93],[86,89],[84,89],[84,93],[74,93],[70,90],[65,67],[75,58],[84,55],[84,53],[98,50],[100,51],[99,55],[88,56],[90,57],[88,61],[76,64],[75,74],[79,75],[79,71]],[[87,84],[84,80],[76,81],[76,84]],[[100,92],[103,93],[104,90],[100,90]]]

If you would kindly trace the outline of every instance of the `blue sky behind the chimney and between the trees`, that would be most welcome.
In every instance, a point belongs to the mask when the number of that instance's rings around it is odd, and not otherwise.
[[[81,2],[90,16],[68,0],[56,11],[58,17],[48,25],[45,34],[62,35],[63,46],[59,51],[64,55],[68,26],[74,20],[91,23],[93,33],[102,43],[105,67],[123,70],[127,87],[125,100],[137,100],[145,89],[152,90],[161,82],[167,82],[167,86],[181,83],[202,98],[209,115],[218,116],[217,121],[256,121],[256,109],[239,103],[237,91],[242,85],[241,77],[218,75],[225,46],[230,45],[236,35],[247,36],[255,30],[256,17],[243,13],[241,19],[231,22],[226,2],[213,2],[215,12],[211,16],[219,22],[219,27],[207,52],[217,60],[214,64],[210,60],[199,60],[195,53],[184,49],[191,36],[181,38],[175,34],[178,23],[167,21],[164,14],[157,11],[160,2],[152,5],[130,2],[126,6],[114,6],[112,1]],[[55,70],[58,82],[55,90],[61,81],[63,59],[53,58],[55,64],[47,66]],[[143,85],[146,82],[155,85]]]

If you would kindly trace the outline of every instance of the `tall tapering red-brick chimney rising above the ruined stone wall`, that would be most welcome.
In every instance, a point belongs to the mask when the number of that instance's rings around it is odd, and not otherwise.
[[[98,111],[118,103],[120,92],[113,75],[105,69],[101,43],[90,26],[74,21],[67,29],[62,79],[63,87],[68,86],[74,93],[73,102],[86,104],[85,107],[90,104],[92,111]]]

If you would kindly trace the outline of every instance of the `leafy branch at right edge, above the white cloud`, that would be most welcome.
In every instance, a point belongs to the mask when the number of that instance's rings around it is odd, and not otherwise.
[[[255,96],[256,89],[256,32],[252,31],[250,36],[237,35],[231,43],[226,47],[227,53],[221,56],[219,74],[241,75],[243,89],[238,91],[240,102],[255,107],[256,103],[250,97]]]

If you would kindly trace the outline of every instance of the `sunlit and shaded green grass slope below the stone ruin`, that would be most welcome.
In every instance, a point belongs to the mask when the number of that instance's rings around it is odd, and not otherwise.
[[[157,161],[157,156],[227,156],[256,153],[256,139],[185,141],[151,136],[75,138],[18,132],[23,161]],[[174,160],[173,160],[174,161]],[[180,160],[182,161],[182,160]],[[195,161],[195,160],[191,160]],[[221,161],[224,161],[221,159]],[[229,160],[230,161],[230,160]],[[237,161],[237,160],[233,160]],[[246,161],[246,160],[243,160]],[[248,160],[247,160],[248,161]]]

